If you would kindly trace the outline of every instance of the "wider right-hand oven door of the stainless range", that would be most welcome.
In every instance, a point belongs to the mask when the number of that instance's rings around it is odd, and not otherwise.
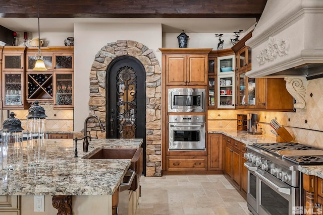
[[[257,170],[259,184],[258,214],[295,214],[300,206],[300,188],[291,187],[266,171]]]

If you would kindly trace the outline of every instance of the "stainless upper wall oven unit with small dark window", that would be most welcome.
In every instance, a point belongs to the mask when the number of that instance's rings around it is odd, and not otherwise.
[[[205,89],[168,89],[168,112],[205,112]]]

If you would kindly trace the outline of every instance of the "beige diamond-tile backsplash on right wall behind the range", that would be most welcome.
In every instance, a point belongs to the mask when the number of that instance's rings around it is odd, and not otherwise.
[[[305,109],[296,112],[209,110],[208,129],[237,129],[237,114],[259,113],[260,125],[267,135],[274,136],[269,123],[276,118],[295,137],[293,141],[323,148],[323,78],[307,82]]]

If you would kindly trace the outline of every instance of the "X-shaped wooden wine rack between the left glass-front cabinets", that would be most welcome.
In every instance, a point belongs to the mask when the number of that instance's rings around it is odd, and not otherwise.
[[[27,74],[27,99],[47,101],[53,99],[52,73]]]

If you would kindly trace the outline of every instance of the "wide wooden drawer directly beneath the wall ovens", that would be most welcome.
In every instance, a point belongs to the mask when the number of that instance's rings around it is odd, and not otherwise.
[[[207,157],[168,157],[167,166],[169,171],[180,170],[206,170]]]

